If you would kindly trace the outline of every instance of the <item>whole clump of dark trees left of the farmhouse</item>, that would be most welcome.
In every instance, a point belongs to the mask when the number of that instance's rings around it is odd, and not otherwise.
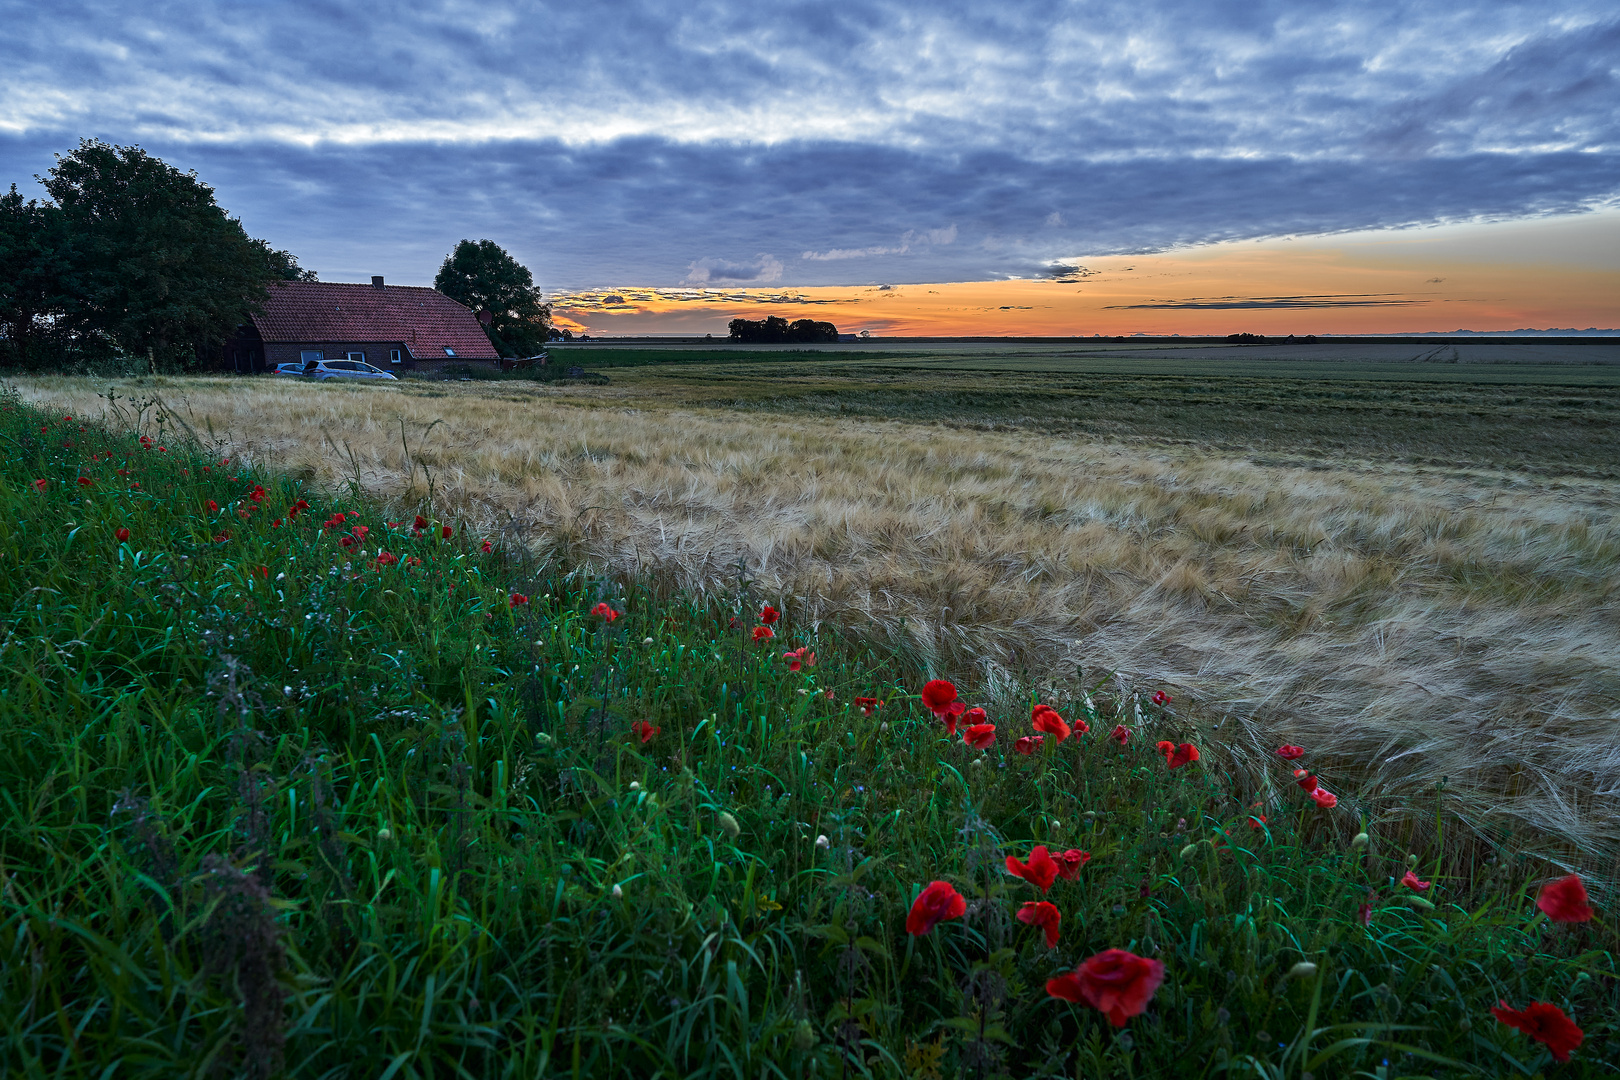
[[[314,280],[248,236],[194,172],[84,139],[37,178],[49,199],[0,196],[0,363],[151,356],[206,363],[269,282]]]

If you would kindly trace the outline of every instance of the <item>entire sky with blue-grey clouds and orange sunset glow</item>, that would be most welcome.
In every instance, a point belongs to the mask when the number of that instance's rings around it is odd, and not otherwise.
[[[0,183],[139,144],[593,334],[1620,325],[1612,0],[0,0]]]

